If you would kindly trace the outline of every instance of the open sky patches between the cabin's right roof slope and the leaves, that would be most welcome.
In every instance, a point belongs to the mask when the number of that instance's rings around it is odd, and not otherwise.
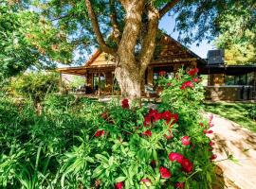
[[[164,16],[159,23],[159,28],[164,29],[170,36],[172,36],[175,40],[178,37],[178,32],[174,32],[175,18],[174,16]],[[207,52],[211,49],[214,49],[212,43],[208,43],[207,41],[203,41],[199,46],[196,46],[196,43],[192,43],[189,48],[195,54],[199,55],[201,58],[207,58]]]

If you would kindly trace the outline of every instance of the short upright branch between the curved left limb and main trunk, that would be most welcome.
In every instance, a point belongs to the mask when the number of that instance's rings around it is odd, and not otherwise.
[[[109,0],[109,6],[110,6],[110,21],[113,26],[113,37],[116,43],[119,44],[120,42],[120,30],[119,30],[119,23],[118,23],[118,16],[117,11],[115,8],[115,2],[116,0]]]

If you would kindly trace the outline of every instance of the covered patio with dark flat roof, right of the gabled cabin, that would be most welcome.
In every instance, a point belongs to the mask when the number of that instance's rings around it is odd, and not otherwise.
[[[208,75],[207,99],[256,100],[256,65],[208,64],[199,72]]]

